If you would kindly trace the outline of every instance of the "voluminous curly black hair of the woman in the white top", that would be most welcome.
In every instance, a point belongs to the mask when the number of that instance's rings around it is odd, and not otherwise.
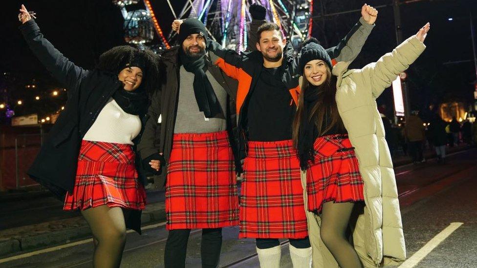
[[[154,52],[144,46],[120,45],[115,46],[101,54],[96,68],[105,72],[119,74],[123,68],[123,63],[132,57],[142,57],[146,62],[143,71],[143,87],[148,94],[152,94],[160,87],[160,64],[159,57]]]

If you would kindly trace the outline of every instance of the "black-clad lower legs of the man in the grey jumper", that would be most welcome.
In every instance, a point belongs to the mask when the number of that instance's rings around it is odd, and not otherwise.
[[[186,262],[187,242],[191,229],[175,229],[169,231],[164,265],[166,268],[184,268]],[[202,229],[200,256],[203,268],[216,268],[220,260],[222,247],[222,228]]]

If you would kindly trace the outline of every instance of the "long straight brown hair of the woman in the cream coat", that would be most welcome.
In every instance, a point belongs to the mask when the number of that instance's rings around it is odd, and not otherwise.
[[[333,76],[330,68],[326,66],[326,81],[314,89],[312,94],[317,94],[317,101],[311,107],[309,114],[305,115],[303,111],[304,95],[306,90],[314,86],[310,85],[310,82],[303,76],[301,93],[298,97],[298,110],[293,120],[293,143],[295,146],[298,144],[300,124],[304,119],[316,125],[319,136],[325,134],[333,127],[336,127],[338,131],[345,130],[341,116],[338,113],[338,106],[336,105],[336,82],[336,76]],[[331,122],[328,122],[328,124],[324,124],[326,113],[330,113],[331,118]]]

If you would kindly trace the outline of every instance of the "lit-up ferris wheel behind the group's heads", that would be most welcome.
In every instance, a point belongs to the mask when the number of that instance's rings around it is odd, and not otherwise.
[[[121,8],[125,19],[125,40],[130,43],[155,43],[157,49],[169,48],[175,33],[166,35],[157,21],[150,0],[143,0],[146,9],[127,11],[125,6],[138,0],[113,0]],[[267,9],[266,19],[277,23],[283,35],[299,48],[312,30],[313,0],[188,0],[182,7],[167,3],[176,19],[198,18],[203,21],[210,36],[222,46],[244,51],[247,47],[247,31],[252,21],[249,6],[260,3]],[[180,10],[180,11],[179,11]],[[177,12],[179,11],[179,12]],[[153,32],[160,37],[159,45],[151,42]]]

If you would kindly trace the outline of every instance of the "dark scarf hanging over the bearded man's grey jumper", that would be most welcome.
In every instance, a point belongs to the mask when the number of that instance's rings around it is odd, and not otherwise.
[[[191,59],[182,49],[179,49],[179,58],[186,71],[194,74],[194,95],[199,106],[199,111],[204,112],[205,117],[213,117],[221,112],[220,103],[217,100],[214,88],[205,74],[205,54],[198,59]]]

